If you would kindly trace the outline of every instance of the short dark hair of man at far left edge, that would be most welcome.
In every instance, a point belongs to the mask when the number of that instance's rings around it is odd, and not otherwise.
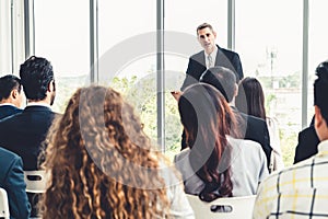
[[[13,74],[7,74],[0,78],[0,101],[9,99],[12,90],[21,92],[21,79]]]

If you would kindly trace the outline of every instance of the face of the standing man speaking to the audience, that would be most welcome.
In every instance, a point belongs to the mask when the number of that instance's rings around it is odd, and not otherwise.
[[[212,32],[209,27],[206,27],[199,30],[197,34],[201,47],[206,50],[207,54],[211,54],[215,47],[216,33]]]

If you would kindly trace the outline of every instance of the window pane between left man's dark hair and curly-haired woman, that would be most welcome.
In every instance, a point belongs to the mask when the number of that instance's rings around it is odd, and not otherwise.
[[[89,1],[35,0],[35,56],[47,58],[55,72],[52,110],[63,112],[77,88],[89,83]]]

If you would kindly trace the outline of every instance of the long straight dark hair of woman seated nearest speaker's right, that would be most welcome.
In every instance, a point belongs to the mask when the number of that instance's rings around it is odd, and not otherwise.
[[[256,78],[247,77],[239,82],[235,104],[241,112],[266,119],[265,94]]]

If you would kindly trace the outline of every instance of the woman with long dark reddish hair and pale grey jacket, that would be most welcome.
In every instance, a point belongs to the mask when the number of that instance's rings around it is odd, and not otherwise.
[[[212,85],[194,84],[184,91],[178,110],[189,148],[175,163],[186,193],[206,201],[256,194],[269,174],[266,155],[259,143],[237,139],[237,115],[223,95]]]

